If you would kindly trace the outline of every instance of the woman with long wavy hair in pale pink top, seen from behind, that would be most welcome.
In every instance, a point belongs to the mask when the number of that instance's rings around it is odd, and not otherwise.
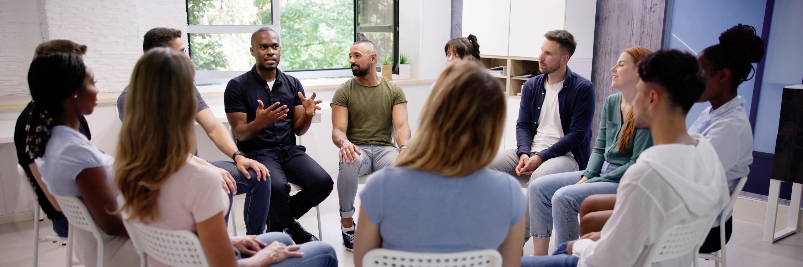
[[[127,220],[198,234],[211,266],[336,265],[334,250],[322,242],[292,245],[284,233],[228,237],[219,172],[191,157],[193,80],[190,59],[169,48],[149,50],[134,67],[115,165],[120,211]]]

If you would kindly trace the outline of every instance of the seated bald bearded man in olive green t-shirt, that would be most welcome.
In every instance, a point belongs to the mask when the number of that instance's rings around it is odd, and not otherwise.
[[[354,252],[354,199],[362,175],[389,167],[410,140],[407,99],[401,87],[377,75],[377,47],[357,41],[349,51],[354,79],[332,98],[332,142],[340,148],[337,193],[343,245]],[[396,131],[396,144],[393,144]]]

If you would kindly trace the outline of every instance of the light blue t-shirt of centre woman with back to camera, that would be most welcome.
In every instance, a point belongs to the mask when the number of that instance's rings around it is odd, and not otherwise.
[[[431,253],[499,249],[526,204],[519,181],[487,168],[459,178],[384,168],[360,199],[382,248]]]

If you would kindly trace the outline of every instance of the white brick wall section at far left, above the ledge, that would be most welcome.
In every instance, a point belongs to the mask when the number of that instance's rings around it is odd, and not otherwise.
[[[42,42],[35,0],[0,0],[0,95],[28,95],[27,73]]]

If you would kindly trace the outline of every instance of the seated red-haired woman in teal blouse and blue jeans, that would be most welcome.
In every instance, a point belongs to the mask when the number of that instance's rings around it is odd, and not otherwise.
[[[602,104],[597,144],[585,171],[541,176],[528,186],[533,255],[547,254],[552,226],[555,245],[577,239],[581,203],[596,194],[613,194],[619,180],[646,148],[652,146],[648,129],[635,129],[632,103],[638,83],[638,62],[652,51],[628,47],[610,68],[610,86],[620,92]]]

